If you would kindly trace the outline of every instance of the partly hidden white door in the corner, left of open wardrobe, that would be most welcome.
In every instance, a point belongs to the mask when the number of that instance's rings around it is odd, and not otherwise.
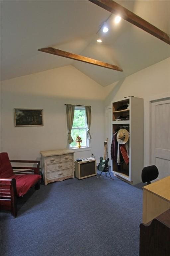
[[[106,139],[108,138],[108,157],[109,157],[109,166],[112,166],[111,160],[111,143],[112,143],[112,109],[111,107],[106,107],[105,109],[105,120],[106,120]],[[104,145],[104,144],[103,144]]]

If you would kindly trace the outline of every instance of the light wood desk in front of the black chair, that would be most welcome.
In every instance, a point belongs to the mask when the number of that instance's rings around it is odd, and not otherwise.
[[[143,187],[143,223],[170,208],[170,176]]]

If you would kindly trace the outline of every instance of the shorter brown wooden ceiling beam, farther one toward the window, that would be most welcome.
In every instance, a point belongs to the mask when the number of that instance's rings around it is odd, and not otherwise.
[[[42,49],[39,49],[39,51],[54,54],[54,55],[58,55],[58,56],[73,59],[73,60],[79,60],[79,61],[82,61],[82,62],[90,63],[90,64],[101,66],[101,67],[104,67],[104,68],[110,68],[110,69],[114,69],[114,70],[117,70],[117,71],[123,71],[118,66],[108,64],[108,63],[105,63],[103,61],[91,59],[91,58],[88,58],[88,57],[84,57],[82,55],[77,55],[77,54],[74,54],[74,53],[61,51],[59,49],[55,49],[55,48],[52,48],[52,47],[42,48]]]

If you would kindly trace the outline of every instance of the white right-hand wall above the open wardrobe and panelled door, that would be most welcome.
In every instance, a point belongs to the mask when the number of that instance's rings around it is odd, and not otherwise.
[[[148,102],[150,99],[159,99],[170,95],[170,58],[105,87],[105,93],[105,106],[126,96],[144,99],[144,166],[149,165]]]

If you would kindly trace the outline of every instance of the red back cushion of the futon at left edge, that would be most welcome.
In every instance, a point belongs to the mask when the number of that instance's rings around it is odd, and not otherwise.
[[[1,162],[1,178],[9,178],[14,175],[11,162],[8,157],[8,153],[0,154],[0,162]]]

